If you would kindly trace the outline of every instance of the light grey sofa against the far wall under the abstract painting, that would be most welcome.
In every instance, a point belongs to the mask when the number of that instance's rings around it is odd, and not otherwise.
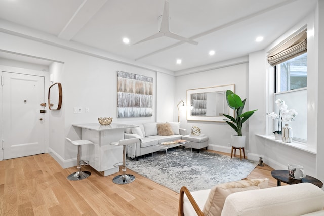
[[[165,135],[160,135],[160,126],[166,124],[170,125],[172,132],[167,128],[167,130],[163,132],[170,133],[162,133]],[[139,124],[137,126],[139,127],[126,129],[124,135],[125,139],[134,137],[140,138],[139,143],[130,145],[127,149],[127,156],[131,158],[158,151],[158,148],[153,148],[155,144],[181,139],[182,136],[187,133],[186,129],[180,128],[180,123],[178,122],[152,122]]]

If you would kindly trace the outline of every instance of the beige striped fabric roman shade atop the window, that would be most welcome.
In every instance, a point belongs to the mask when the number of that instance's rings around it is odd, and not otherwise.
[[[273,48],[267,60],[271,66],[280,64],[307,52],[307,29],[303,29],[291,39]]]

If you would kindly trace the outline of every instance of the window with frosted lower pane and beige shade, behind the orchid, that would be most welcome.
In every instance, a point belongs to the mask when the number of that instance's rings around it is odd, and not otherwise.
[[[295,109],[298,115],[294,121],[286,122],[293,128],[295,141],[307,142],[307,27],[273,48],[268,63],[275,71],[274,101],[282,99]],[[278,108],[275,113],[279,113]],[[278,121],[274,122],[277,125]],[[282,125],[284,126],[284,125]],[[277,129],[277,128],[276,128]],[[275,129],[274,129],[275,130]]]

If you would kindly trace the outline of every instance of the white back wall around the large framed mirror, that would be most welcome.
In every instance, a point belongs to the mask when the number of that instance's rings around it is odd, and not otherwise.
[[[235,84],[235,92],[242,98],[248,96],[249,64],[238,64],[234,66],[182,75],[176,78],[176,101],[187,101],[187,90],[197,88],[215,87],[219,85]],[[249,99],[247,99],[249,101]],[[247,102],[245,110],[249,109]],[[177,111],[176,111],[177,114]],[[217,151],[230,152],[230,135],[236,132],[225,122],[187,121],[185,111],[180,112],[180,123],[188,133],[193,126],[201,129],[202,134],[209,137],[209,148]],[[175,121],[177,116],[175,116]],[[244,134],[248,133],[248,124],[244,125]],[[248,140],[248,139],[247,139]],[[247,141],[248,142],[248,141]],[[247,148],[248,149],[248,148]]]

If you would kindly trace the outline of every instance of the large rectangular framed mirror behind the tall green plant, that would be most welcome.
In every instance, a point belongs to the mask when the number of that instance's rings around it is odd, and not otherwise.
[[[234,116],[227,105],[226,90],[235,92],[235,85],[187,90],[187,120],[225,122],[223,114]]]

